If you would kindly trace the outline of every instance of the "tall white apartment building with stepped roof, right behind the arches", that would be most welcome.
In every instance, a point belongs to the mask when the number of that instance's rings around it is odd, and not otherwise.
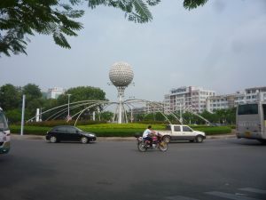
[[[202,87],[183,86],[172,89],[164,96],[165,113],[185,109],[193,112],[203,112],[207,109],[207,98],[215,96],[215,92]]]

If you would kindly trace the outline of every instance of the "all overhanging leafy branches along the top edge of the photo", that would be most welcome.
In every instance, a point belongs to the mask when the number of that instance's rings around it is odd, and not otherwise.
[[[0,1],[0,56],[25,53],[27,36],[37,34],[52,36],[59,46],[70,49],[66,36],[77,36],[82,23],[76,21],[84,11],[74,9],[87,2],[90,9],[98,5],[120,9],[125,18],[136,23],[153,20],[149,6],[160,0],[1,0]],[[184,8],[193,9],[207,0],[184,0]]]

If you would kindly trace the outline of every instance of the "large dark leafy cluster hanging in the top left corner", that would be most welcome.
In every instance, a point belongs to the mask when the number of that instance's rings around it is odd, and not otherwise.
[[[77,1],[71,1],[77,4]],[[70,4],[59,0],[2,0],[0,1],[0,52],[10,56],[26,53],[29,39],[35,33],[51,35],[56,44],[70,48],[66,36],[77,36],[74,32],[82,24],[73,19],[83,15]]]

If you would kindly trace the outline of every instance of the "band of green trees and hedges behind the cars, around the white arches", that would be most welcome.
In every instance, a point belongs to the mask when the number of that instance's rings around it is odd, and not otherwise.
[[[59,95],[58,99],[47,99],[41,92],[38,85],[27,84],[23,87],[14,86],[12,84],[4,84],[0,86],[0,107],[4,108],[5,114],[8,117],[9,124],[13,133],[20,132],[21,122],[21,100],[22,94],[26,95],[26,120],[35,116],[36,108],[40,108],[43,112],[41,118],[43,122],[30,122],[25,124],[25,134],[39,134],[44,135],[51,130],[51,127],[56,125],[74,125],[74,120],[66,122],[67,115],[67,93],[71,95],[71,102],[82,100],[103,100],[106,101],[106,92],[99,88],[91,86],[78,86],[68,89],[65,94]],[[64,112],[57,114],[58,110],[52,110],[45,113],[46,110],[51,108],[60,107],[64,105]],[[70,115],[79,112],[87,105],[82,105],[78,108],[70,108]],[[216,110],[214,113],[204,111],[200,114],[208,120],[210,125],[199,116],[192,115],[192,113],[184,112],[182,114],[184,124],[191,125],[194,130],[206,132],[207,135],[230,133],[234,129],[235,124],[235,108]],[[95,113],[96,121],[93,121],[93,113]],[[131,113],[128,112],[128,118],[131,118]],[[180,113],[176,112],[175,115],[179,118]],[[56,116],[56,117],[51,117]],[[176,118],[171,115],[166,115],[171,124],[179,124]],[[74,118],[75,119],[75,118]],[[113,120],[113,112],[104,110],[104,105],[98,105],[95,108],[87,109],[82,113],[77,126],[86,132],[95,132],[98,136],[105,137],[129,137],[134,136],[137,132],[143,132],[148,124],[153,125],[154,130],[164,130],[166,124],[165,116],[160,112],[153,112],[148,114],[133,114],[133,121],[129,124],[111,124]],[[47,120],[47,121],[46,121]],[[30,120],[35,121],[35,119]]]

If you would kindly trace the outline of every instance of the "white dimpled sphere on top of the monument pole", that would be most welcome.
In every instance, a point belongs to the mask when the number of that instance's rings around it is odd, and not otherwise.
[[[128,86],[133,77],[133,70],[127,62],[115,62],[109,71],[109,78],[114,86]]]

